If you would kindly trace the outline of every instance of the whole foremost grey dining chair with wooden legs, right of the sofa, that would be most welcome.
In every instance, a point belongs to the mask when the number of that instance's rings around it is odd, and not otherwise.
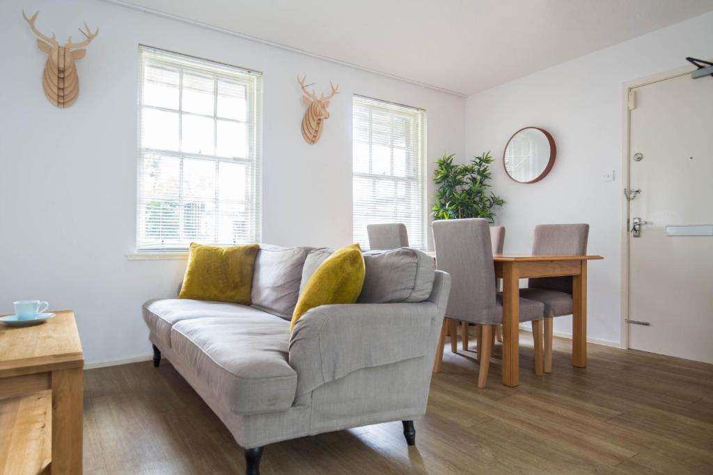
[[[488,221],[485,219],[449,219],[434,221],[436,267],[451,274],[451,296],[448,298],[446,318],[451,325],[451,341],[456,339],[458,320],[481,325],[478,342],[480,373],[478,387],[485,387],[492,345],[493,325],[503,323],[503,303],[493,285],[495,263],[491,248]],[[542,320],[545,306],[540,302],[520,298],[520,321],[532,321],[540,329],[535,336],[535,353],[541,353]],[[467,333],[463,335],[468,338]],[[436,355],[436,367],[443,358],[446,325],[441,330],[441,341]]]

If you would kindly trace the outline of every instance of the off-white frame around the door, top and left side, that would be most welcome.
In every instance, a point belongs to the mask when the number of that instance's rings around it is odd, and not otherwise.
[[[623,98],[622,98],[622,184],[624,184],[625,189],[629,189],[629,177],[630,177],[630,161],[629,157],[631,154],[630,142],[631,142],[631,110],[629,109],[629,98],[632,93],[632,89],[638,88],[642,85],[658,83],[662,80],[677,78],[682,75],[690,74],[695,71],[692,66],[683,66],[681,68],[672,69],[670,71],[665,71],[663,73],[657,73],[648,75],[645,78],[635,79],[624,83]],[[635,99],[633,99],[635,101]],[[631,236],[629,234],[629,200],[625,197],[622,189],[622,194],[620,195],[622,203],[622,220],[621,227],[621,242],[622,242],[622,306],[621,306],[621,340],[620,347],[629,349],[629,325],[626,320],[629,318],[629,239]]]

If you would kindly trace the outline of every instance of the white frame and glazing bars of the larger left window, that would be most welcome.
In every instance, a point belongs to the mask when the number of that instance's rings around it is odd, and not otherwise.
[[[160,58],[157,58],[157,55]],[[179,83],[178,83],[178,109],[173,108],[161,108],[155,105],[144,105],[143,103],[143,88],[144,88],[144,66],[146,61],[150,63],[161,64],[165,63],[166,66],[170,68],[178,68],[179,70]],[[215,101],[217,101],[218,90],[217,90],[217,80],[224,79],[230,80],[232,82],[241,83],[245,86],[245,97],[246,97],[246,115],[245,121],[235,120],[230,118],[224,118],[217,115],[217,102],[213,107],[212,115],[201,115],[198,113],[185,112],[182,108],[182,93],[183,93],[183,72],[188,71],[190,73],[198,73],[199,75],[209,75],[214,80],[214,94]],[[243,78],[242,80],[240,78]],[[178,150],[159,150],[148,147],[143,147],[142,142],[142,113],[144,108],[153,108],[156,110],[168,110],[172,113],[178,113]],[[222,157],[218,155],[206,155],[206,154],[195,154],[183,152],[181,149],[181,138],[183,137],[182,122],[184,115],[193,115],[201,117],[212,117],[215,121],[214,125],[214,140],[215,146],[217,146],[217,120],[220,118],[221,121],[232,121],[245,123],[247,130],[247,157]],[[173,242],[172,244],[163,244],[163,239],[160,243],[155,242],[150,244],[144,233],[144,217],[145,217],[145,194],[143,192],[143,177],[145,173],[144,160],[146,155],[163,155],[168,157],[178,157],[180,159],[180,182],[183,182],[183,162],[186,158],[188,159],[200,159],[215,162],[216,167],[216,197],[215,197],[215,214],[217,216],[220,203],[224,202],[218,199],[217,189],[219,188],[217,182],[217,174],[219,169],[219,164],[221,162],[228,163],[242,163],[247,166],[247,178],[246,187],[246,209],[250,211],[246,212],[246,216],[249,218],[252,227],[250,230],[250,236],[245,241],[232,241],[232,242],[220,242],[217,239],[217,221],[216,221],[216,239],[214,241],[202,241],[205,244],[215,244],[222,246],[230,246],[235,244],[248,244],[251,242],[260,242],[260,236],[262,232],[262,222],[261,222],[261,205],[262,205],[262,184],[261,184],[261,174],[262,174],[262,73],[252,70],[247,70],[244,68],[239,68],[237,66],[230,66],[224,63],[218,63],[215,61],[210,61],[202,58],[196,58],[194,56],[188,56],[180,53],[173,53],[172,51],[165,51],[158,48],[153,48],[150,46],[139,46],[139,83],[138,83],[138,168],[137,168],[137,200],[136,200],[136,247],[134,256],[140,256],[141,254],[176,254],[183,255],[188,251],[188,245],[190,238],[182,239],[183,229],[185,227],[184,216],[183,216],[183,189],[180,190],[178,195],[178,230],[179,239],[178,241],[183,242]],[[217,151],[215,152],[217,154]],[[183,187],[181,187],[183,188]],[[252,199],[252,201],[251,201]],[[131,256],[130,256],[130,259]],[[140,259],[134,257],[134,259]]]

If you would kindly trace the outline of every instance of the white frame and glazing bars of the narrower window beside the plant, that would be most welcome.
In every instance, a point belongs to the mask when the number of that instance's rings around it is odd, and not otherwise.
[[[409,225],[409,222],[405,222],[406,229],[409,231],[409,245],[416,249],[426,249],[428,246],[428,213],[427,213],[427,182],[426,182],[426,123],[427,114],[426,110],[422,108],[415,108],[409,105],[402,105],[399,103],[392,103],[386,100],[369,98],[364,95],[354,95],[352,98],[352,120],[355,120],[354,111],[356,105],[359,104],[360,107],[366,107],[369,109],[369,113],[373,110],[382,110],[394,115],[411,116],[414,120],[414,125],[417,130],[407,136],[408,140],[414,140],[416,143],[409,144],[406,142],[404,147],[396,147],[393,145],[393,139],[391,141],[391,169],[393,172],[393,153],[395,148],[403,148],[404,150],[413,147],[413,152],[415,154],[414,160],[412,160],[413,168],[411,177],[400,177],[395,174],[374,174],[371,172],[356,172],[356,157],[354,152],[352,152],[352,238],[354,242],[358,242],[362,249],[369,249],[369,240],[366,237],[366,224],[371,224],[371,222],[379,223],[384,222],[384,219],[359,219],[357,216],[356,208],[356,179],[373,179],[373,180],[384,180],[388,182],[404,182],[411,186],[418,187],[418,205],[420,209],[414,210],[415,219],[399,219],[399,216],[389,216],[386,221],[389,222],[404,222],[404,221],[416,221],[416,224]],[[354,126],[354,125],[353,125]],[[354,133],[354,132],[353,132]],[[371,134],[370,134],[371,135]],[[352,145],[356,143],[356,136],[352,137]],[[369,140],[369,167],[373,169],[374,157],[372,155],[372,149],[374,142]],[[376,206],[375,206],[376,207]],[[369,221],[367,223],[366,221]],[[363,229],[362,229],[363,228]],[[414,229],[417,228],[417,229]],[[416,232],[414,232],[416,231]]]

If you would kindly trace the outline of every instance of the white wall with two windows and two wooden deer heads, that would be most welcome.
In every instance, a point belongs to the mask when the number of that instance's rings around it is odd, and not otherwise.
[[[58,38],[100,28],[78,62],[66,110],[42,93],[46,56],[22,19]],[[149,352],[140,306],[172,296],[185,261],[128,261],[135,246],[138,44],[264,73],[262,241],[352,241],[352,94],[428,111],[428,160],[463,155],[464,99],[101,1],[9,0],[0,7],[0,313],[39,298],[75,310],[87,362]],[[297,74],[339,83],[317,145],[307,145]],[[433,186],[429,180],[429,195]],[[430,233],[429,233],[430,234]]]

